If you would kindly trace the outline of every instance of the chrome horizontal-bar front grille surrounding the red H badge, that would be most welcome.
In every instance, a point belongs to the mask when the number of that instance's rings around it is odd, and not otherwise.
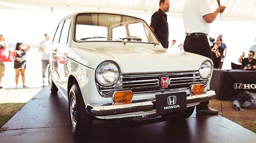
[[[161,77],[169,77],[168,87],[161,87]],[[102,96],[112,96],[115,91],[131,90],[136,93],[150,93],[173,89],[186,89],[192,84],[206,86],[209,78],[202,79],[198,71],[155,73],[155,74],[125,74],[120,76],[119,82],[112,87],[97,85]]]

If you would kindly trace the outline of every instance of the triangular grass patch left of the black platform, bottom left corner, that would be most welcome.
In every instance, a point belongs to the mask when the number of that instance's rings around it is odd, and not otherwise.
[[[0,104],[0,127],[20,110],[26,103],[1,103]]]

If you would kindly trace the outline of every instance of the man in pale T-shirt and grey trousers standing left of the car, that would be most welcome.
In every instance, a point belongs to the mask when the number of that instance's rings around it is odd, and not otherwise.
[[[42,77],[43,77],[43,86],[45,85],[45,72],[46,72],[46,67],[49,64],[49,53],[51,50],[51,42],[49,41],[50,35],[45,34],[44,35],[45,40],[39,42],[39,52],[42,52]]]

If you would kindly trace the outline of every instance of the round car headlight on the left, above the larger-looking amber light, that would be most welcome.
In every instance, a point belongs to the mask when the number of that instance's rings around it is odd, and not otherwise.
[[[96,80],[100,85],[110,86],[117,82],[119,70],[116,63],[106,61],[96,69]]]

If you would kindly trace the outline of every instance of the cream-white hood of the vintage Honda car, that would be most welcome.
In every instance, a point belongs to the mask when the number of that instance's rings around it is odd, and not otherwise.
[[[122,73],[146,73],[169,71],[196,71],[207,57],[164,48],[107,47],[72,48],[79,56],[78,62],[96,69],[104,61],[116,62]],[[210,60],[211,61],[211,60]]]

